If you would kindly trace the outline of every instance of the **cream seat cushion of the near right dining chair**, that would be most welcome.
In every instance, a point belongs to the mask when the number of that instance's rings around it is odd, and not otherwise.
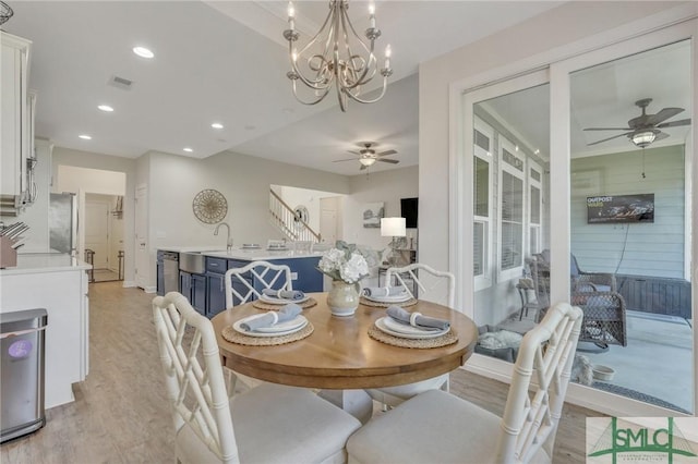
[[[430,390],[371,419],[347,442],[356,463],[494,462],[500,417],[450,393]],[[550,462],[542,451],[534,462]]]

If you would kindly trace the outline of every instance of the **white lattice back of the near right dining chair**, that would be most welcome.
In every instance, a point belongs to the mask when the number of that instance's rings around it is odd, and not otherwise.
[[[578,307],[561,303],[524,335],[502,417],[496,462],[526,463],[542,447],[552,451],[582,317]]]

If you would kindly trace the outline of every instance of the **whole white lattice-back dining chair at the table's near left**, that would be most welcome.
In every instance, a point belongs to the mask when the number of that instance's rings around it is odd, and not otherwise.
[[[361,423],[306,389],[229,398],[209,319],[177,292],[153,300],[178,463],[340,463]]]

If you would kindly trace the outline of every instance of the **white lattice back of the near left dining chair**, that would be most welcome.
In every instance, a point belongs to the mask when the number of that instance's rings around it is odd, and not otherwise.
[[[167,396],[179,437],[188,427],[224,463],[238,463],[213,325],[177,292],[153,300]]]

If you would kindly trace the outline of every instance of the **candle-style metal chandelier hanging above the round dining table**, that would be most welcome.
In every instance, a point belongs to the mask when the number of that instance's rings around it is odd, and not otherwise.
[[[339,108],[347,111],[349,99],[360,103],[373,103],[385,95],[390,69],[390,46],[385,49],[383,68],[378,69],[377,59],[373,52],[374,42],[381,36],[381,29],[375,27],[375,7],[369,5],[369,28],[364,32],[364,41],[354,29],[347,10],[346,0],[330,0],[329,13],[320,30],[302,48],[297,49],[296,41],[300,34],[296,29],[296,10],[293,3],[288,3],[289,28],[284,30],[284,38],[288,40],[288,51],[291,70],[286,76],[291,81],[293,96],[303,105],[315,105],[322,101],[333,86],[336,87]],[[363,86],[369,84],[376,74],[383,76],[381,94],[368,99],[363,94]],[[306,99],[299,96],[298,82],[308,87]]]

